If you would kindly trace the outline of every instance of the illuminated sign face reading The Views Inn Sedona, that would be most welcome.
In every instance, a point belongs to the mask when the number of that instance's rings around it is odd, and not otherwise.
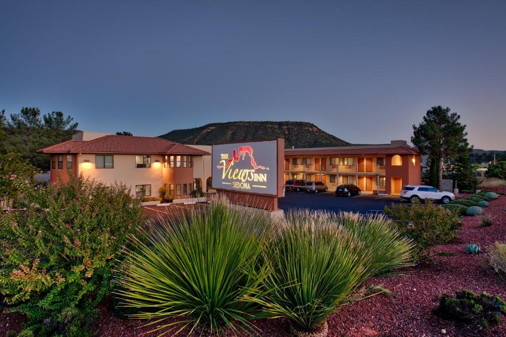
[[[277,197],[277,140],[213,145],[213,188]]]

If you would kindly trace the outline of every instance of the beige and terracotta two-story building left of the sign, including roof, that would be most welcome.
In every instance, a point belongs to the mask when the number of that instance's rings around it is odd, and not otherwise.
[[[78,132],[37,153],[50,155],[51,182],[68,180],[69,173],[106,184],[130,187],[137,197],[157,197],[165,186],[171,195],[188,196],[195,186],[194,162],[206,151],[158,137]]]

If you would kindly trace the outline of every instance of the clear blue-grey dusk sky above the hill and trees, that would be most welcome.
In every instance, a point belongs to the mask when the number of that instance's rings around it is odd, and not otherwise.
[[[5,1],[0,110],[156,136],[308,121],[352,143],[407,139],[448,106],[506,150],[505,1]]]

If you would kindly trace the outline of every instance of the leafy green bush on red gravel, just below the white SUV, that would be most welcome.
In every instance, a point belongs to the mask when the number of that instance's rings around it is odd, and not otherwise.
[[[392,205],[384,213],[392,216],[403,236],[413,240],[419,258],[430,255],[430,248],[455,237],[461,220],[450,210],[435,206],[430,200],[424,204]]]

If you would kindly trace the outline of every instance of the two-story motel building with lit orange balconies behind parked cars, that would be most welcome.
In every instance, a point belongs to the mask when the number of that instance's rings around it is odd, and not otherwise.
[[[288,179],[322,181],[329,189],[350,183],[364,192],[399,194],[403,185],[420,183],[420,152],[405,140],[369,146],[285,149]]]

